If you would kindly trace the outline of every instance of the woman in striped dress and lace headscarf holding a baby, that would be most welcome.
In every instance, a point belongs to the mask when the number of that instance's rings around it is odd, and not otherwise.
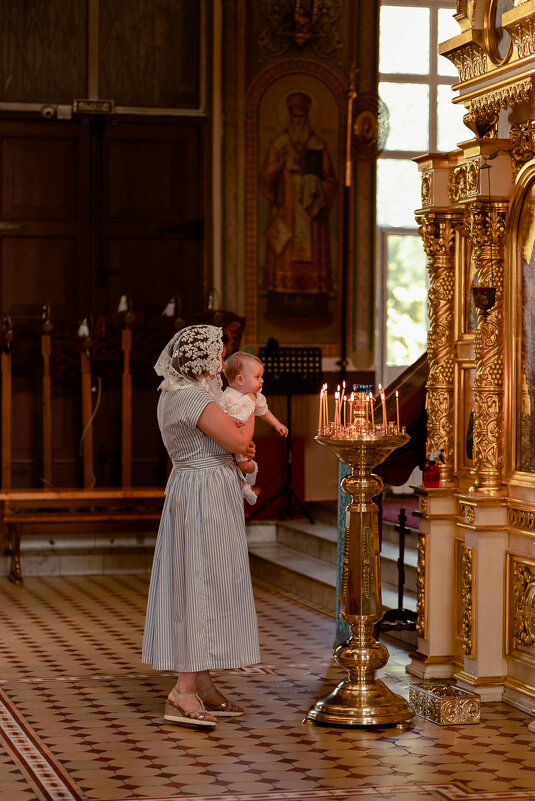
[[[245,423],[218,406],[223,331],[184,328],[154,369],[163,377],[158,424],[173,463],[154,553],[143,661],[176,670],[165,720],[214,728],[243,710],[212,683],[211,670],[260,661],[241,473],[234,452],[251,452]]]

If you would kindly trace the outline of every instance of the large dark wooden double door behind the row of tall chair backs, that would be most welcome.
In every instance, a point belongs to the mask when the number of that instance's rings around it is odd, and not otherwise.
[[[184,315],[203,307],[202,130],[196,121],[0,121],[0,311],[14,326],[13,486],[42,485],[43,305],[50,305],[53,336],[63,337],[75,336],[83,316],[113,313],[123,294],[138,316],[159,316],[176,294]],[[138,484],[159,483],[164,469],[151,372],[157,355],[150,347],[134,353]],[[112,361],[95,369],[98,485],[120,483],[121,369]],[[56,381],[53,394],[52,483],[80,484],[77,377]]]

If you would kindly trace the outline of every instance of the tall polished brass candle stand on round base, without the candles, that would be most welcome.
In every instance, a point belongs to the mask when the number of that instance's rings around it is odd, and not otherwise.
[[[346,511],[340,606],[340,617],[351,635],[334,652],[348,678],[309,710],[307,717],[316,723],[380,726],[414,717],[407,701],[375,678],[376,670],[388,662],[388,649],[373,636],[383,612],[378,509],[372,498],[380,493],[383,482],[371,471],[408,440],[407,434],[316,437],[316,442],[353,469],[340,484],[342,492],[352,498]]]

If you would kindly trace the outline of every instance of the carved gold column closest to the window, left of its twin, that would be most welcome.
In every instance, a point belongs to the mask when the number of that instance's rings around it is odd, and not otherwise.
[[[419,212],[417,220],[429,260],[427,452],[442,451],[440,485],[448,486],[454,482],[455,232],[464,218],[461,211],[434,209]]]

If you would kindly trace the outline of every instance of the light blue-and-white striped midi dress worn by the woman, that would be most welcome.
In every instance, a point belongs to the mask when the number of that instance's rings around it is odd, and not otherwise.
[[[197,428],[213,397],[201,386],[164,391],[162,439],[173,463],[147,602],[143,662],[179,673],[260,661],[240,474]]]

